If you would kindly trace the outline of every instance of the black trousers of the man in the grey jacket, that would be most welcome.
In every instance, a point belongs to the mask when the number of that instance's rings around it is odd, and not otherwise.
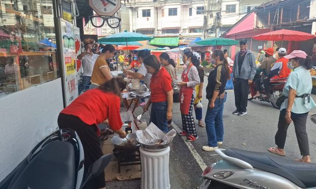
[[[248,79],[234,78],[235,106],[239,112],[247,111],[249,84]]]

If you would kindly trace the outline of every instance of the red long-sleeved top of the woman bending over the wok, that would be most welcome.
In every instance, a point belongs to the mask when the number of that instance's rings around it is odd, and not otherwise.
[[[123,125],[119,109],[120,98],[116,94],[94,88],[81,94],[60,113],[77,116],[88,125],[98,125],[108,119],[109,126],[115,131]]]

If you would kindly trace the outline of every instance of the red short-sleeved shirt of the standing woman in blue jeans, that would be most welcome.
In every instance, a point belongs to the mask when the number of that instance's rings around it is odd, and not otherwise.
[[[171,77],[166,68],[161,67],[158,73],[150,79],[151,102],[160,103],[167,101],[167,92],[172,90]]]

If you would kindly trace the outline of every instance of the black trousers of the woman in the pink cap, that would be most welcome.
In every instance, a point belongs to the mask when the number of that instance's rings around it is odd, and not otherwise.
[[[281,149],[284,149],[287,128],[290,125],[286,123],[285,121],[285,113],[286,113],[286,109],[283,109],[280,112],[278,131],[275,134],[275,144]],[[293,123],[294,123],[298,147],[302,156],[309,155],[308,137],[306,133],[307,115],[308,115],[308,112],[304,114],[295,114],[291,112],[291,119],[293,120]]]

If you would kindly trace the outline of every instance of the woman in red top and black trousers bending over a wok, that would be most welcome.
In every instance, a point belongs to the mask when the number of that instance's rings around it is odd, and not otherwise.
[[[99,159],[103,153],[100,148],[100,130],[98,124],[108,119],[111,129],[121,138],[127,134],[121,129],[119,114],[121,92],[126,87],[122,78],[112,78],[98,88],[90,89],[79,96],[72,104],[59,113],[59,129],[75,130],[82,142],[85,154],[85,171]],[[91,179],[87,188],[105,187],[104,172]]]

